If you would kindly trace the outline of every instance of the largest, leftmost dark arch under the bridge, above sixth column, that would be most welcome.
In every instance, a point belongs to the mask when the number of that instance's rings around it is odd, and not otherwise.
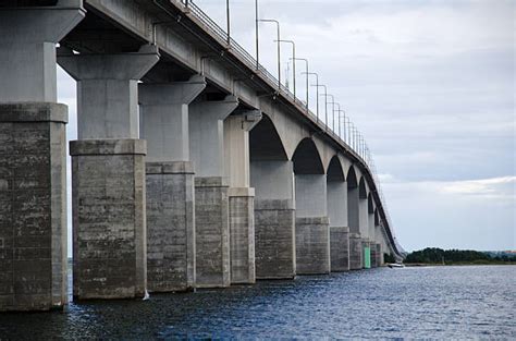
[[[288,160],[283,141],[272,120],[262,114],[260,122],[249,132],[250,160]]]

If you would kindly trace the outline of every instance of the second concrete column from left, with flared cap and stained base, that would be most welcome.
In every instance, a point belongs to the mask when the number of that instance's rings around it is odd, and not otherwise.
[[[78,141],[70,143],[74,297],[142,297],[147,285],[145,155],[137,82],[158,61],[135,53],[73,54],[58,61],[77,81]]]

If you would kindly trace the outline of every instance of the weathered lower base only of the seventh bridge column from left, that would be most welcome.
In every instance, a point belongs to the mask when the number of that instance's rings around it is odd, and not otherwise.
[[[296,217],[296,272],[330,272],[330,230],[328,217]]]

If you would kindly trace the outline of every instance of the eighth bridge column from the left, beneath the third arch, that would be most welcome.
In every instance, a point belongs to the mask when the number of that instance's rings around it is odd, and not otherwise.
[[[330,219],[330,270],[349,270],[349,228],[347,223],[347,184],[328,176],[328,217]]]

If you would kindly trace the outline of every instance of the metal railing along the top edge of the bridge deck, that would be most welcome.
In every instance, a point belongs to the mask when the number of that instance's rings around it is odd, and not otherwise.
[[[243,48],[237,41],[235,41],[232,37],[228,35],[228,33],[220,27],[208,14],[206,14],[193,0],[181,0],[187,12],[192,13],[206,28],[209,31],[221,45],[226,46],[228,50],[231,50],[234,54],[238,57],[238,59],[244,62],[249,69],[256,70],[256,72],[260,73],[263,80],[271,86],[275,88],[278,94],[291,100],[295,106],[298,107],[299,110],[304,111],[308,117],[310,117],[314,121],[320,124],[324,131],[332,135],[333,138],[339,141],[341,144],[346,145],[347,148],[355,151],[358,155],[363,162],[367,165],[371,175],[373,178],[374,184],[377,186],[377,192],[380,197],[380,202],[384,211],[384,216],[386,219],[386,223],[389,227],[392,227],[391,216],[389,214],[389,209],[386,207],[386,200],[382,191],[381,181],[378,176],[377,168],[374,166],[374,161],[371,157],[371,154],[368,151],[370,150],[365,143],[363,146],[357,144],[352,139],[349,134],[346,134],[346,122],[344,122],[344,137],[340,134],[339,131],[333,130],[328,122],[320,120],[309,108],[307,108],[306,103],[296,98],[294,94],[282,83],[278,81],[278,78],[272,75],[263,65],[259,64],[256,59],[245,49]],[[394,235],[394,230],[390,229],[391,235],[396,244],[396,248],[403,252],[403,248],[397,243],[397,239]]]

